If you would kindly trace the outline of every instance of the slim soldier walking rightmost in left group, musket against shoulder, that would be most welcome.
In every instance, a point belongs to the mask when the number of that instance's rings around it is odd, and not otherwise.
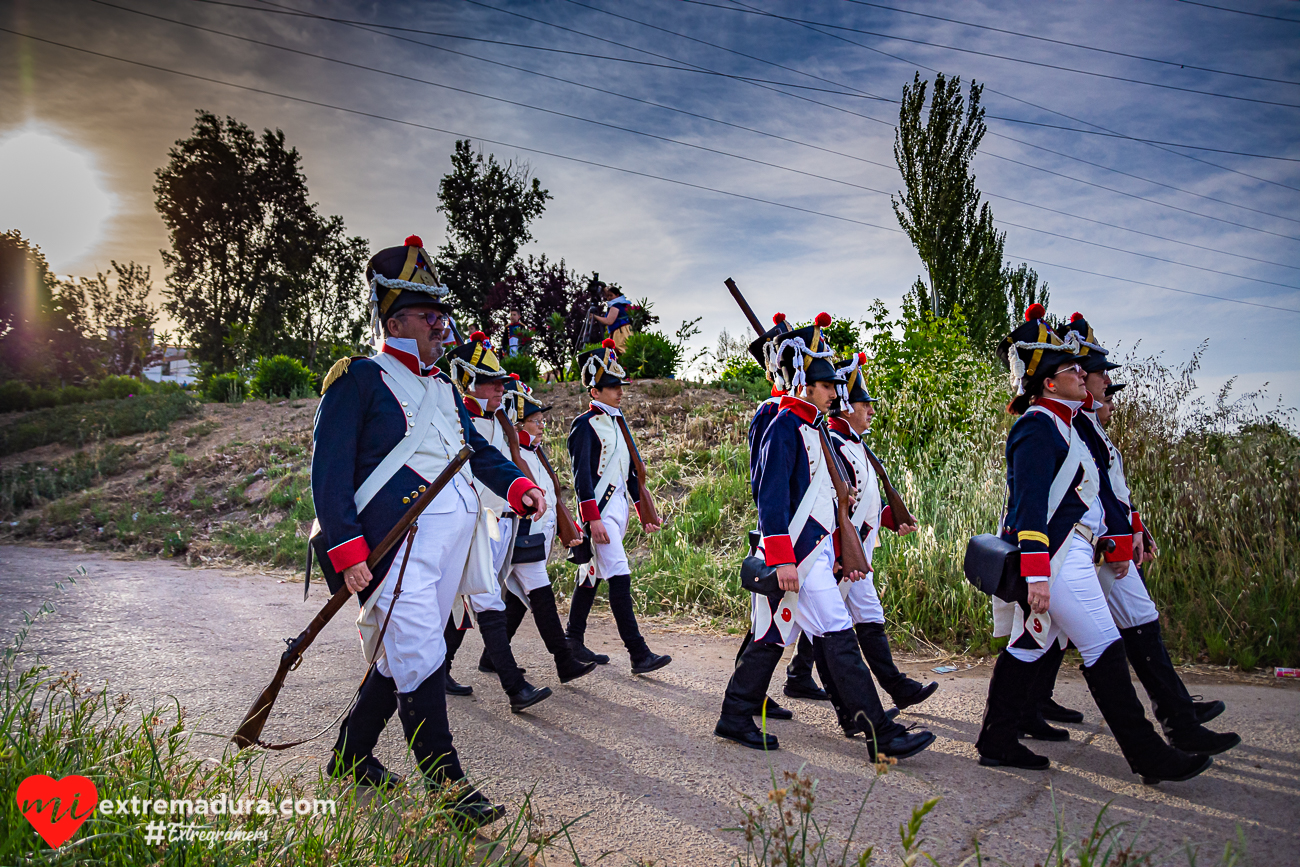
[[[571,562],[578,564],[577,586],[569,604],[568,640],[580,662],[604,666],[610,658],[594,654],[582,643],[586,619],[602,580],[610,585],[610,611],[619,637],[632,658],[632,673],[646,675],[672,662],[667,654],[650,650],[637,627],[632,607],[632,567],[623,550],[628,529],[628,502],[637,508],[646,533],[658,524],[646,523],[641,486],[632,467],[632,430],[621,417],[623,368],[611,338],[601,347],[577,356],[578,374],[592,398],[592,408],[569,428],[568,451],[573,461],[573,487],[586,542],[573,549]],[[646,494],[649,497],[649,493]]]

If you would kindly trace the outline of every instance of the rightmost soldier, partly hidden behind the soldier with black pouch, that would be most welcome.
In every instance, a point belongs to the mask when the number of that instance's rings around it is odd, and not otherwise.
[[[1079,364],[1083,367],[1084,386],[1089,395],[1089,400],[1075,415],[1074,426],[1101,471],[1101,497],[1109,503],[1108,538],[1115,541],[1121,556],[1131,554],[1126,560],[1126,576],[1119,577],[1118,571],[1108,563],[1097,568],[1097,578],[1119,628],[1128,662],[1147,689],[1156,719],[1164,727],[1169,742],[1187,753],[1217,755],[1239,745],[1242,738],[1234,732],[1217,733],[1205,728],[1204,723],[1222,714],[1225,705],[1192,701],[1165,649],[1160,633],[1160,612],[1147,593],[1147,582],[1138,568],[1150,560],[1153,552],[1147,550],[1141,516],[1131,504],[1123,459],[1105,432],[1114,406],[1112,395],[1115,386],[1110,381],[1110,370],[1119,365],[1106,357],[1106,351],[1100,347],[1092,326],[1082,315],[1075,313],[1069,322],[1057,326],[1057,335],[1061,338],[1067,338],[1071,331],[1079,335]],[[1114,530],[1112,524],[1115,524]],[[1070,737],[1067,731],[1048,725],[1039,710],[1044,698],[1050,701],[1062,653],[1057,649],[1049,658],[1044,658],[1043,669],[1035,677],[1026,714],[1020,720],[1022,733],[1030,737],[1053,741]]]

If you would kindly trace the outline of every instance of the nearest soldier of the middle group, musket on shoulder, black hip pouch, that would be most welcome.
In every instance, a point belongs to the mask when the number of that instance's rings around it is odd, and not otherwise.
[[[755,611],[754,642],[745,649],[727,684],[722,715],[714,733],[751,749],[775,750],[775,737],[758,731],[770,654],[764,645],[789,646],[801,632],[812,636],[823,684],[849,719],[871,733],[868,754],[906,758],[930,746],[935,736],[909,732],[888,718],[853,632],[853,620],[835,580],[835,487],[822,450],[818,421],[836,400],[844,380],[827,360],[831,350],[822,329],[826,313],[812,325],[781,337],[776,346],[781,398],[759,447],[758,524],[762,554],[776,568],[781,595],[764,598]],[[850,530],[852,532],[852,530]],[[862,575],[848,575],[855,581]]]

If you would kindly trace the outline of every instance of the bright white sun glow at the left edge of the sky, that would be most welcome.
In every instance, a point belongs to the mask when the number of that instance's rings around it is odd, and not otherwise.
[[[40,126],[0,136],[0,231],[39,244],[55,272],[95,247],[112,213],[91,155]]]

